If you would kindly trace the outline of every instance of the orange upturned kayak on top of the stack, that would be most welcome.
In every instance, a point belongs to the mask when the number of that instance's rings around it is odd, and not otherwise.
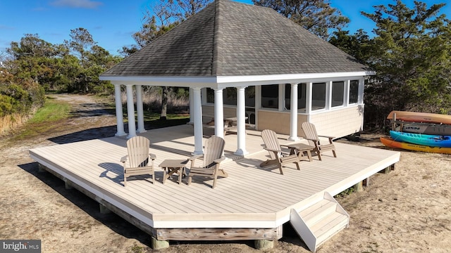
[[[434,124],[451,124],[451,115],[440,115],[427,112],[406,112],[394,110],[390,112],[387,119],[400,120],[404,122],[424,122]]]

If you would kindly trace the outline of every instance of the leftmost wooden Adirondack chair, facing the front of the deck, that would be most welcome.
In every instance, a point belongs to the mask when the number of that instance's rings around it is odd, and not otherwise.
[[[156,156],[149,153],[149,139],[135,136],[127,141],[128,155],[121,158],[124,167],[124,187],[128,176],[149,174],[154,183],[154,160]]]

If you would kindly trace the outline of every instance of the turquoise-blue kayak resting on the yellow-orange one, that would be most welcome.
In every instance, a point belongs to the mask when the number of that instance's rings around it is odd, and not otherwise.
[[[427,145],[430,147],[451,148],[451,136],[412,134],[400,131],[390,131],[390,136],[394,141]]]

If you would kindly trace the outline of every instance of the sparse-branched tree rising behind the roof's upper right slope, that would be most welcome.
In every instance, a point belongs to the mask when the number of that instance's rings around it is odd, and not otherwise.
[[[255,5],[273,8],[317,36],[328,40],[330,30],[340,30],[350,22],[328,0],[252,0]]]

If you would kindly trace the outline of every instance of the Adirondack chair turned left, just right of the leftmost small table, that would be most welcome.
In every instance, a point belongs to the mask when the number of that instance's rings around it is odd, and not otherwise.
[[[218,136],[211,136],[205,141],[205,153],[204,155],[194,155],[188,160],[191,161],[190,174],[188,174],[188,186],[191,184],[192,176],[206,176],[213,178],[213,186],[216,186],[216,179],[218,176],[227,177],[228,174],[223,169],[219,169],[219,165],[226,157],[222,157],[224,153],[225,141]],[[194,162],[199,157],[204,157],[204,163],[202,167],[196,167]]]

